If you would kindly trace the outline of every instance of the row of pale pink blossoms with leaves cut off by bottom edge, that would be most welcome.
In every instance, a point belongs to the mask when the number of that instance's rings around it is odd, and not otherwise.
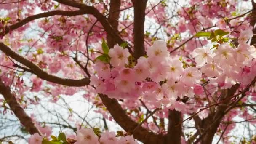
[[[138,144],[132,135],[118,136],[115,132],[105,131],[104,133],[97,133],[93,129],[81,128],[77,131],[77,136],[75,139],[67,138],[64,133],[60,133],[57,137],[51,136],[53,140],[51,142],[67,142],[74,141],[74,144]],[[42,142],[48,141],[47,138],[40,136],[38,133],[33,134],[29,138],[29,144],[42,144]],[[58,143],[59,144],[59,143]]]

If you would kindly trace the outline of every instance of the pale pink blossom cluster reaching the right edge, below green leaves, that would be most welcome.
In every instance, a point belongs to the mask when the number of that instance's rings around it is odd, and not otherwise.
[[[237,48],[230,43],[221,43],[215,50],[195,49],[192,56],[196,67],[211,83],[219,84],[222,88],[230,88],[235,83],[249,84],[255,76],[251,71],[256,70],[256,49],[246,43],[252,36],[250,29],[241,31]]]

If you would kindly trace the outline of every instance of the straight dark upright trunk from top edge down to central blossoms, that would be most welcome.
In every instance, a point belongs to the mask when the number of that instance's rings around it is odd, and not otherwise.
[[[144,48],[144,22],[145,9],[147,0],[132,0],[134,7],[134,23],[133,23],[133,43],[134,52],[133,57],[139,59],[140,56],[145,55]]]

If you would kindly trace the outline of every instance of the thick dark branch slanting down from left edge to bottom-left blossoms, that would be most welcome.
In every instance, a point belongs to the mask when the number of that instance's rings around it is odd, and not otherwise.
[[[16,101],[15,96],[11,93],[11,89],[5,86],[1,79],[0,79],[0,93],[3,95],[10,109],[19,119],[21,124],[24,125],[26,130],[30,134],[39,133],[41,135],[40,131],[35,127],[35,124],[33,123],[32,119],[26,114],[24,109]]]

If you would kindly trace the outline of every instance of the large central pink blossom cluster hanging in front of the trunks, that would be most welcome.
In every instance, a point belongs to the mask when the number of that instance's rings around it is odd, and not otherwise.
[[[108,53],[110,64],[97,60],[97,76],[91,76],[91,85],[97,93],[116,99],[136,99],[143,96],[155,107],[169,107],[178,96],[192,97],[197,91],[202,73],[195,67],[184,65],[178,57],[171,58],[166,43],[157,40],[133,65],[128,61],[127,48],[115,45]],[[193,87],[196,87],[193,89]]]

